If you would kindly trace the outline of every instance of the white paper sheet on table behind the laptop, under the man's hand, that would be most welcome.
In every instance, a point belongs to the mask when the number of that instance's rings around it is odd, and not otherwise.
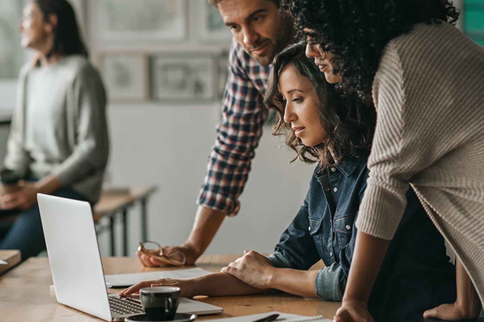
[[[176,278],[188,279],[198,276],[212,274],[200,267],[182,268],[171,271],[157,271],[146,273],[132,273],[132,274],[110,274],[105,275],[107,287],[127,287],[141,281],[158,279],[158,278]]]

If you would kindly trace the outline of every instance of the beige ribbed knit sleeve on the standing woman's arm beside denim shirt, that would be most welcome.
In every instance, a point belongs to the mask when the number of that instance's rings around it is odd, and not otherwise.
[[[401,162],[405,97],[400,65],[389,44],[373,86],[378,121],[368,159],[370,176],[356,221],[359,230],[384,239],[393,238],[407,205],[408,175]]]

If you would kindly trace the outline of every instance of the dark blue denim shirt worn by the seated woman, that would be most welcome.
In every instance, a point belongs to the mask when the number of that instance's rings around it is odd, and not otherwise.
[[[368,153],[317,166],[304,204],[281,235],[269,260],[275,267],[307,270],[320,259],[316,294],[341,301],[353,256],[354,222],[366,187]],[[407,208],[372,290],[368,308],[376,321],[422,317],[425,309],[455,300],[455,269],[444,241],[412,189]]]

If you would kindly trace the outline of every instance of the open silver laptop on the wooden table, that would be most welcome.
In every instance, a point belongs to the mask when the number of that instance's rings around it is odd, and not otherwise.
[[[37,194],[37,200],[57,302],[106,321],[123,321],[143,313],[137,299],[107,293],[89,202],[44,194]],[[194,314],[222,311],[222,307],[183,297],[177,310]]]

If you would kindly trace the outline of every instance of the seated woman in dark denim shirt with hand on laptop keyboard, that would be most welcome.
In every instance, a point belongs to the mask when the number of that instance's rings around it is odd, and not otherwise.
[[[255,251],[245,252],[222,269],[223,273],[185,281],[145,281],[120,295],[160,284],[180,286],[183,296],[277,289],[341,300],[355,243],[354,221],[368,175],[366,159],[375,111],[356,95],[345,98],[337,94],[305,57],[304,47],[296,44],[276,56],[264,96],[264,104],[279,116],[274,134],[286,135],[296,158],[318,163],[304,205],[274,252],[267,258]],[[425,309],[455,299],[455,270],[445,254],[443,238],[411,189],[407,197],[404,220],[372,293],[378,303],[372,313],[382,322],[419,317]],[[319,260],[326,267],[308,271]]]

